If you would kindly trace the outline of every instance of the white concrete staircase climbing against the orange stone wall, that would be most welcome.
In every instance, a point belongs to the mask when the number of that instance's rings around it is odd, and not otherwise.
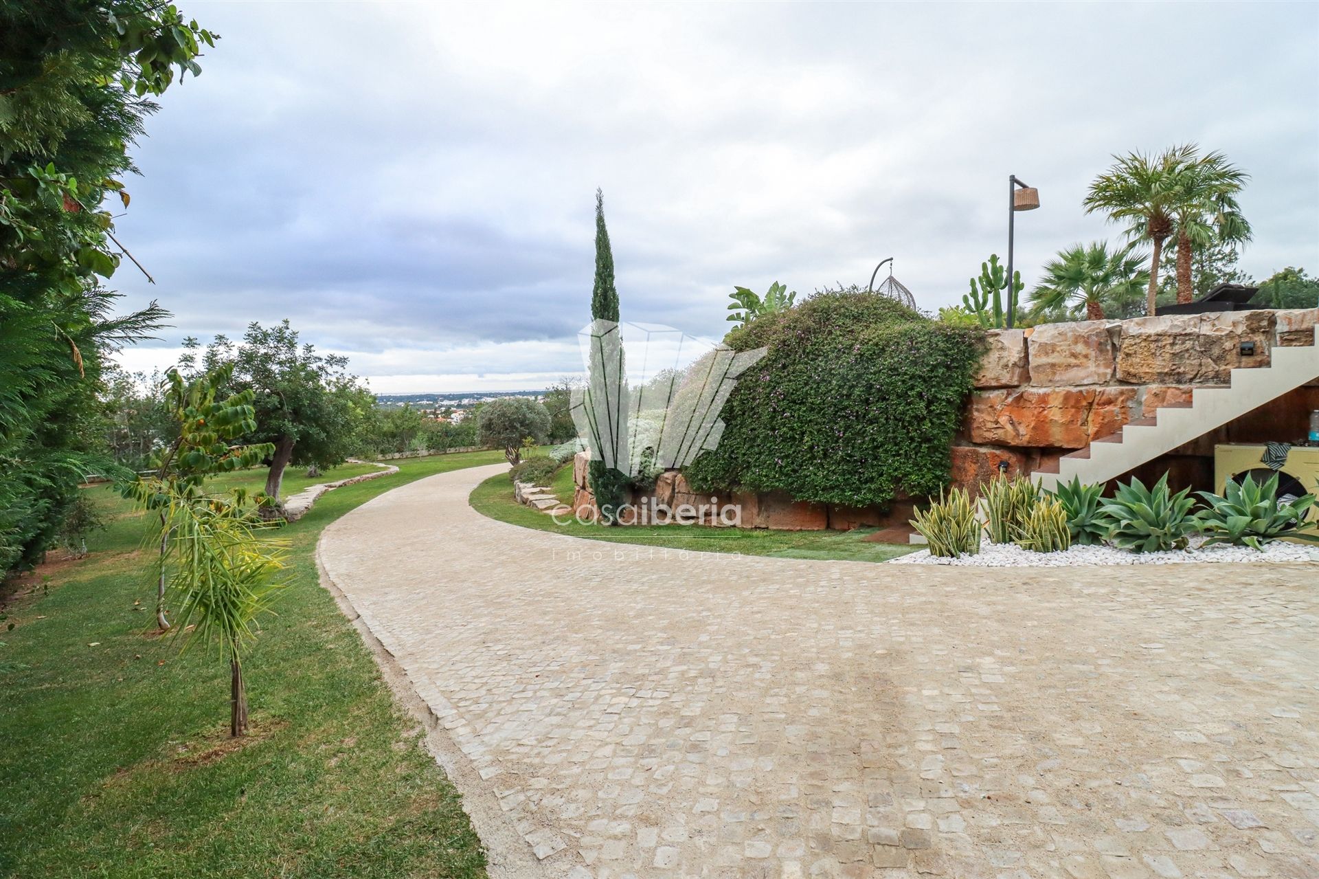
[[[1031,476],[1049,490],[1071,482],[1072,476],[1083,483],[1108,482],[1316,377],[1319,327],[1314,344],[1274,344],[1269,366],[1232,370],[1231,384],[1198,387],[1190,404],[1162,407],[1153,418],[1132,421]]]

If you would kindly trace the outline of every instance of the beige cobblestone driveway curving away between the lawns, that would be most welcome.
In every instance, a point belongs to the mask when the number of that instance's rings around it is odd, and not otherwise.
[[[321,550],[545,875],[1319,876],[1319,566],[600,544],[495,471]]]

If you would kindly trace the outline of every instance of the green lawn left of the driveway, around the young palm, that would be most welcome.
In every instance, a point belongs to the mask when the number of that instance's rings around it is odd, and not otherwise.
[[[47,589],[20,585],[5,608],[15,628],[0,630],[0,875],[484,875],[458,793],[321,589],[313,550],[327,523],[389,488],[501,459],[398,461],[400,472],[332,491],[280,532],[290,586],[247,660],[253,734],[237,748],[228,667],[148,636],[142,523],[90,488],[109,528],[88,558],[54,565]],[[294,471],[285,484],[353,470]],[[248,480],[264,472],[235,478]]]

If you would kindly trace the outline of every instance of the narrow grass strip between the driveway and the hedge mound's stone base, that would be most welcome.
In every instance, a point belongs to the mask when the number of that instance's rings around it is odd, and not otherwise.
[[[550,486],[559,500],[572,500],[572,466],[562,467]],[[764,528],[710,528],[703,525],[636,525],[604,528],[576,520],[563,525],[530,507],[513,500],[513,486],[506,474],[491,476],[471,495],[479,512],[524,528],[554,531],[574,537],[605,540],[615,544],[641,544],[673,549],[696,549],[711,553],[776,556],[780,558],[832,558],[843,561],[888,561],[917,546],[873,544],[863,540],[873,529],[856,531],[769,531]]]

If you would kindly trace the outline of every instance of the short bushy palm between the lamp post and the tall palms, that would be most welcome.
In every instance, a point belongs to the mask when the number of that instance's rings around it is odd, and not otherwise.
[[[1087,321],[1101,321],[1105,305],[1121,308],[1149,284],[1149,272],[1141,268],[1144,261],[1145,256],[1132,245],[1109,252],[1105,242],[1058,251],[1030,292],[1031,314],[1062,311],[1070,304],[1070,313],[1079,317],[1084,305]]]

